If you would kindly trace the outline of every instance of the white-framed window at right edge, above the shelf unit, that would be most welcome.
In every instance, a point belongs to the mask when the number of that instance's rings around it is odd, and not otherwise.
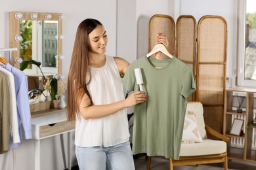
[[[256,86],[256,1],[238,1],[238,86]]]

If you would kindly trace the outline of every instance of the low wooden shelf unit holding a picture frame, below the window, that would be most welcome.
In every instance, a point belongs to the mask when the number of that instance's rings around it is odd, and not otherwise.
[[[235,93],[243,93],[245,94],[245,109],[243,109],[242,113],[236,112],[234,110],[234,96]],[[253,152],[252,141],[249,138],[247,132],[247,123],[253,119],[253,108],[254,108],[254,96],[256,93],[256,88],[227,88],[225,91],[225,99],[224,99],[224,116],[223,116],[223,134],[227,137],[242,139],[244,140],[244,144],[242,147],[242,153],[234,153],[231,150],[231,142],[228,143],[228,159],[229,160],[241,160],[241,161],[251,161],[253,163],[256,162],[256,154]],[[242,128],[242,134],[240,136],[231,135],[230,129],[232,127],[232,123],[234,118],[240,117],[244,120],[244,127]],[[253,156],[254,154],[254,156]]]

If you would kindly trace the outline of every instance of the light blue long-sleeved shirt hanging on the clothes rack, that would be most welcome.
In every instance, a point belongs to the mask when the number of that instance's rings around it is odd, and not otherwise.
[[[5,69],[11,72],[14,76],[20,142],[16,143],[12,141],[12,138],[10,138],[10,148],[16,148],[22,143],[22,127],[24,130],[25,139],[32,138],[31,114],[28,101],[28,82],[24,72],[16,69],[11,64],[7,63]]]

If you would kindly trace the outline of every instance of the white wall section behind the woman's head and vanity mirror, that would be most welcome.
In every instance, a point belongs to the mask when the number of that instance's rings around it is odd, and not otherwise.
[[[66,68],[63,74],[68,75],[76,29],[85,18],[95,18],[102,22],[109,37],[107,53],[116,55],[116,1],[0,0],[0,48],[9,47],[9,11],[62,12],[66,16],[62,29],[65,35],[62,51],[66,57],[63,61],[63,68]],[[9,54],[5,52],[3,55]]]

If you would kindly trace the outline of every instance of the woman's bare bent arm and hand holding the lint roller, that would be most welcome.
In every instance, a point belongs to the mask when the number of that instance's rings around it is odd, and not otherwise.
[[[108,116],[117,112],[121,109],[125,109],[127,107],[132,107],[137,105],[138,103],[143,103],[146,101],[147,97],[144,95],[145,92],[134,92],[129,95],[126,99],[122,101],[117,101],[115,103],[111,103],[108,105],[93,105],[91,106],[91,102],[87,94],[83,96],[83,99],[80,103],[80,114],[83,116],[84,119],[91,119],[91,118],[101,118],[104,116]]]

